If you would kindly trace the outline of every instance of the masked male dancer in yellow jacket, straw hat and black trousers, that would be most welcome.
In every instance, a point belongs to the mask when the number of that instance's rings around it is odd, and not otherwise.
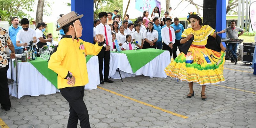
[[[59,42],[57,51],[51,55],[48,68],[58,74],[58,89],[69,103],[68,128],[76,128],[78,119],[81,128],[90,128],[88,110],[84,104],[84,85],[88,83],[85,55],[97,55],[105,43],[103,35],[96,35],[98,41],[91,44],[79,39],[82,36],[80,18],[74,11],[58,19],[65,36]],[[100,42],[100,43],[99,43]]]

